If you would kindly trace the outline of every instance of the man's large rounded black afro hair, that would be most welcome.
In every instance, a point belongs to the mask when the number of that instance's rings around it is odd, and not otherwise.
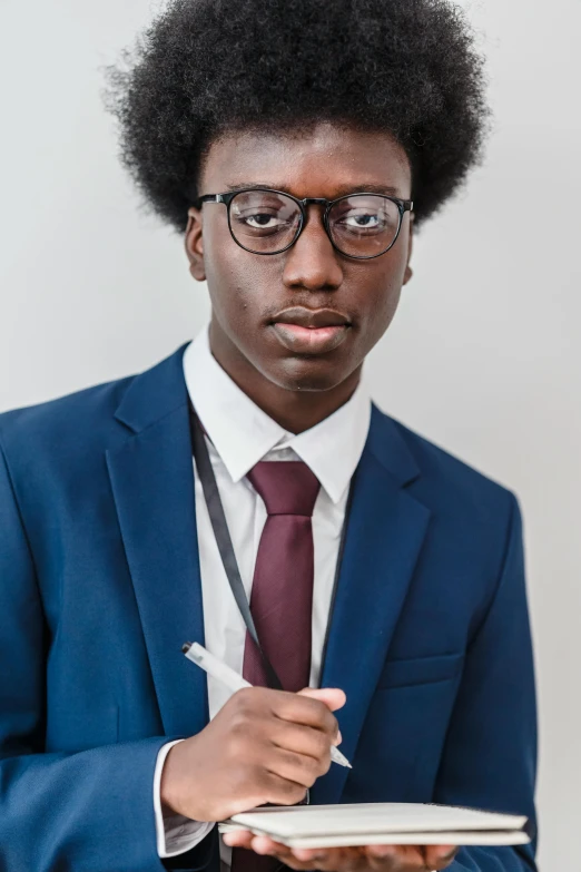
[[[394,136],[423,222],[481,158],[484,92],[474,35],[449,0],[171,0],[108,70],[106,100],[122,163],[184,232],[215,138],[321,120]]]

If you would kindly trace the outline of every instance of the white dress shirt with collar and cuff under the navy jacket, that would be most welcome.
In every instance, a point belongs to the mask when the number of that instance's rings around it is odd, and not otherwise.
[[[191,402],[209,437],[210,460],[248,601],[267,516],[246,474],[260,460],[303,460],[321,482],[313,511],[315,572],[309,679],[309,686],[317,687],[348,486],[370,428],[371,400],[365,384],[360,382],[348,402],[332,415],[295,435],[273,421],[226,374],[210,352],[208,327],[186,349],[184,374]],[[246,626],[224,570],[197,476],[195,491],[205,645],[242,674]],[[232,692],[210,676],[207,682],[211,719]],[[165,758],[174,744],[160,749],[154,778],[160,858],[188,851],[215,825],[181,815],[164,819],[159,784]],[[221,839],[220,855],[229,864],[232,849]]]

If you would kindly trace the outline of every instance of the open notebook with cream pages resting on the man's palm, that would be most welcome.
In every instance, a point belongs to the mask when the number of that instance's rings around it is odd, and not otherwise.
[[[528,844],[526,817],[452,805],[274,805],[228,817],[219,831],[250,830],[289,847],[370,844]]]

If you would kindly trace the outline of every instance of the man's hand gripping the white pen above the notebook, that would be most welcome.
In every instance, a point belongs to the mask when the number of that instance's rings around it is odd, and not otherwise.
[[[197,735],[170,748],[161,773],[166,809],[223,821],[256,805],[294,805],[331,766],[341,735],[337,688],[298,694],[247,687]]]

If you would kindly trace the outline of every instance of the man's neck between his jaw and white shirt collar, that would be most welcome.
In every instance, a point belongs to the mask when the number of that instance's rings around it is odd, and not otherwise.
[[[210,324],[210,351],[223,370],[244,393],[289,433],[303,433],[336,412],[353,395],[362,366],[328,390],[288,390],[269,381]]]

